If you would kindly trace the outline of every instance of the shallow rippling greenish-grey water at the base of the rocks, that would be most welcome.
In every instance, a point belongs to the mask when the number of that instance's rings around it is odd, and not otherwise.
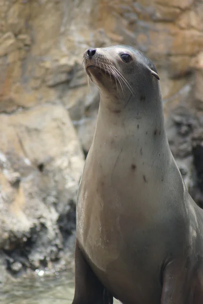
[[[1,304],[71,304],[74,297],[73,273],[56,277],[22,278],[0,289]],[[114,299],[114,304],[119,302]]]

